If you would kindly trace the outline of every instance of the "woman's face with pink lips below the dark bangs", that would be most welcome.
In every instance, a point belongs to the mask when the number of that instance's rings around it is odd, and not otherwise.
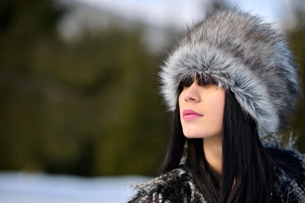
[[[214,84],[184,87],[179,95],[180,121],[187,138],[207,138],[222,133],[225,90]],[[197,112],[199,115],[196,115]]]

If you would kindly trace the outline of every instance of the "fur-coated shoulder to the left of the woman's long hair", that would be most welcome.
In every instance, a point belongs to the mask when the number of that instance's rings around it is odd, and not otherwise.
[[[195,188],[191,173],[183,165],[149,181],[133,185],[137,193],[128,203],[193,202],[204,199]]]

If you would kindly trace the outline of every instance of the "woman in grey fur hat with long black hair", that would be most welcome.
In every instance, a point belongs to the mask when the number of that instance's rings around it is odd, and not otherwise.
[[[170,142],[129,202],[305,202],[305,157],[275,137],[300,96],[279,30],[218,10],[181,33],[159,76]]]

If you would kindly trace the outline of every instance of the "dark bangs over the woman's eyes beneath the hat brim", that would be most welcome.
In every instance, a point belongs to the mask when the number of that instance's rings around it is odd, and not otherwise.
[[[196,74],[193,77],[187,77],[181,80],[179,84],[179,88],[183,89],[184,87],[190,87],[195,82],[195,79],[196,79],[196,83],[200,86],[218,84],[218,82],[212,77],[204,77],[200,74]]]

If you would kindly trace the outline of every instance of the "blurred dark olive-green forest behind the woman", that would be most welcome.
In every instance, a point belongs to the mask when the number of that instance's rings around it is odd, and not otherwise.
[[[0,2],[0,171],[156,174],[169,131],[157,71],[175,28],[64,2]],[[79,8],[101,26],[80,20],[65,37]],[[305,5],[291,1],[288,10],[282,26],[305,81]],[[291,124],[305,153],[304,100]]]

